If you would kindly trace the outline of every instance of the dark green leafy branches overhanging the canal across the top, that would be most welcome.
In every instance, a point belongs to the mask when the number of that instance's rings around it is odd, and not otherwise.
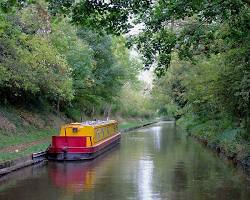
[[[249,37],[249,1],[243,0],[52,0],[50,10],[54,15],[69,15],[75,24],[112,34],[126,33],[142,23],[141,34],[132,41],[144,56],[146,68],[157,63],[158,76],[168,68],[174,51],[180,58],[193,59],[200,53],[221,52]]]

